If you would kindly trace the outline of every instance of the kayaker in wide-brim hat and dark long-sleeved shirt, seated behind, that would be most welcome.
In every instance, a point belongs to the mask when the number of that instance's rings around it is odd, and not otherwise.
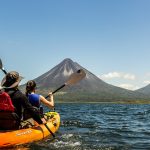
[[[7,127],[5,125],[5,117],[8,119],[8,112],[6,112],[6,115],[4,115],[5,111],[0,111],[0,129],[19,129],[20,122],[23,116],[22,108],[26,109],[28,113],[31,115],[31,117],[39,124],[43,124],[41,120],[41,117],[39,115],[39,112],[37,109],[35,109],[29,102],[28,98],[25,94],[23,94],[19,88],[18,85],[20,81],[22,80],[22,77],[19,75],[16,71],[11,71],[6,74],[6,76],[3,78],[1,82],[1,86],[5,87],[5,92],[9,94],[12,104],[14,106],[14,112],[10,112],[10,115],[16,114],[17,121],[15,123],[14,120],[7,121]],[[2,113],[2,115],[1,115]],[[13,118],[13,117],[12,117]],[[19,123],[18,123],[19,122]],[[14,124],[13,124],[14,123]],[[12,125],[13,124],[13,125]]]

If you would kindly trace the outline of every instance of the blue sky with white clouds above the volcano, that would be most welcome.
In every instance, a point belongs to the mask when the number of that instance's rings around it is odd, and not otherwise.
[[[149,0],[1,0],[3,66],[25,83],[70,58],[109,84],[142,88],[150,83],[149,6]]]

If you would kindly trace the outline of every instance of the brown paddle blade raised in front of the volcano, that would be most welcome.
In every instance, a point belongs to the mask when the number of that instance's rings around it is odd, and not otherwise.
[[[86,73],[83,69],[79,69],[77,72],[73,73],[68,81],[65,83],[66,85],[73,85],[82,80],[86,76]]]

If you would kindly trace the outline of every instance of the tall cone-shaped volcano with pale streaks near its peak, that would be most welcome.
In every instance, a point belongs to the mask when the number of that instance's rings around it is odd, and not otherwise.
[[[102,81],[69,58],[64,59],[54,68],[35,79],[39,92],[46,95],[50,90],[57,89],[66,82],[73,72],[80,68],[85,70],[86,77],[76,85],[62,89],[60,93],[64,92],[65,94],[63,96],[58,95],[58,99],[70,100],[70,97],[72,100],[81,101],[147,99],[143,93],[126,90]]]

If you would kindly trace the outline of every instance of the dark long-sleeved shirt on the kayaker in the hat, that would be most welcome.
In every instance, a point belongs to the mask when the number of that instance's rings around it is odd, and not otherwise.
[[[19,116],[19,118],[22,118],[22,108],[26,109],[31,117],[37,121],[39,124],[42,124],[42,120],[40,118],[39,115],[39,111],[36,110],[29,102],[28,98],[18,89],[13,91],[13,92],[9,92],[7,91],[12,99],[12,103],[15,107],[15,112],[17,113],[17,115]]]

